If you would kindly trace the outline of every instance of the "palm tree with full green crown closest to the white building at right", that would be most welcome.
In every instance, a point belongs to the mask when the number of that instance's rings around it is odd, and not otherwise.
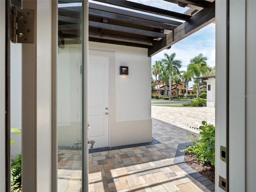
[[[208,60],[208,58],[204,57],[204,55],[200,53],[198,56],[195,56],[190,60],[190,64],[188,64],[188,70],[190,70],[195,77],[200,77],[208,69],[206,60]],[[197,82],[198,89],[196,91],[196,97],[199,95],[200,80],[198,79]]]

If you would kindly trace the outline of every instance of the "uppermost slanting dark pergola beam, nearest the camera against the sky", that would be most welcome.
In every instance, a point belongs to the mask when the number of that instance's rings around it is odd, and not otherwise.
[[[180,20],[188,20],[191,17],[186,14],[168,11],[165,9],[160,9],[160,8],[156,8],[156,7],[152,7],[152,6],[148,6],[148,5],[144,5],[144,4],[140,4],[140,3],[135,3],[135,2],[131,2],[131,1],[126,1],[126,0],[96,0],[96,1],[111,4],[111,5],[116,5],[116,6],[120,6],[120,7],[130,8],[130,9],[134,9],[134,10],[139,10],[139,11],[143,11],[143,12],[147,12],[147,13],[166,16],[166,17],[170,17],[170,18],[176,18],[176,19],[180,19]]]

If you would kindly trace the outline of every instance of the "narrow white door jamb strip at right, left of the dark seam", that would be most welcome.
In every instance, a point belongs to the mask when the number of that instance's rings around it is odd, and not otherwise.
[[[216,0],[216,108],[215,108],[215,191],[223,192],[218,186],[218,177],[227,178],[226,163],[220,160],[220,146],[227,147],[228,128],[228,58],[227,58],[227,1]]]

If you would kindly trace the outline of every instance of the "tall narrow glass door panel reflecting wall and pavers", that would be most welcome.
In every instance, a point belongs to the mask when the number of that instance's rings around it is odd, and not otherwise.
[[[58,1],[58,191],[82,191],[82,3]]]

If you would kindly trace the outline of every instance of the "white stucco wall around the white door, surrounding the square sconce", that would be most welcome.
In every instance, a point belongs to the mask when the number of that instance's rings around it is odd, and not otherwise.
[[[89,42],[89,54],[110,57],[110,146],[150,142],[151,58],[148,50]],[[129,75],[120,76],[119,67]]]

